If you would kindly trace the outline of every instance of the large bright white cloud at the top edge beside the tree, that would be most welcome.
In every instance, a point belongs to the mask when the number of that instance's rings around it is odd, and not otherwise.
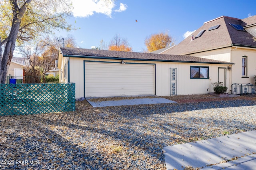
[[[95,13],[105,14],[111,18],[113,11],[123,12],[127,5],[120,3],[120,8],[114,10],[115,0],[72,0],[74,17],[89,17]]]

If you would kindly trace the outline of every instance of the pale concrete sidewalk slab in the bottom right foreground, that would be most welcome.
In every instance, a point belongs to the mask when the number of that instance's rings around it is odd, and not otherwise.
[[[256,170],[256,131],[164,147],[167,170]]]

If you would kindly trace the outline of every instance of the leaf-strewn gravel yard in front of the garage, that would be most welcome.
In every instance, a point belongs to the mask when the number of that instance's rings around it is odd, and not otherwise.
[[[0,117],[0,169],[164,170],[162,148],[256,130],[256,97],[165,97],[178,103]]]

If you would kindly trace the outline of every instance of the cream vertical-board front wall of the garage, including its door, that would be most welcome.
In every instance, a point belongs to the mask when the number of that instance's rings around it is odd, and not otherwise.
[[[177,68],[177,94],[213,92],[218,68],[228,64],[125,61],[70,57],[70,82],[76,83],[76,99],[101,96],[170,96],[170,68]],[[209,66],[209,79],[190,79],[190,66]],[[230,87],[230,71],[227,71]]]

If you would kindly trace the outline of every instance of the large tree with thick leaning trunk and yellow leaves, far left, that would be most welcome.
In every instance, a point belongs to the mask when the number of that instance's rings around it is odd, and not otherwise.
[[[0,1],[0,47],[4,46],[0,83],[6,81],[16,41],[22,44],[59,29],[71,30],[71,25],[66,22],[66,17],[72,14],[71,9],[69,0]]]

